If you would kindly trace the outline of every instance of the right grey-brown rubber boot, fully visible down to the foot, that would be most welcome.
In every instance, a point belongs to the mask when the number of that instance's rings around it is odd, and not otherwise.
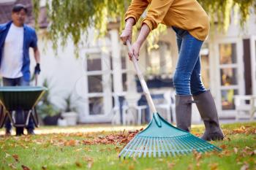
[[[196,101],[195,104],[206,127],[206,131],[203,136],[201,136],[201,139],[206,141],[224,139],[222,129],[219,126],[216,105],[210,90],[195,95],[193,98]]]

